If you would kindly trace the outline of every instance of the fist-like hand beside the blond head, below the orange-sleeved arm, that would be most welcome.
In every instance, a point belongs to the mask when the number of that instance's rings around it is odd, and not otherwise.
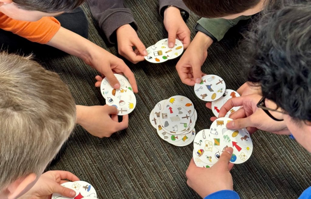
[[[128,115],[118,121],[118,109],[114,106],[77,105],[77,124],[99,138],[110,137],[113,133],[128,128]]]

